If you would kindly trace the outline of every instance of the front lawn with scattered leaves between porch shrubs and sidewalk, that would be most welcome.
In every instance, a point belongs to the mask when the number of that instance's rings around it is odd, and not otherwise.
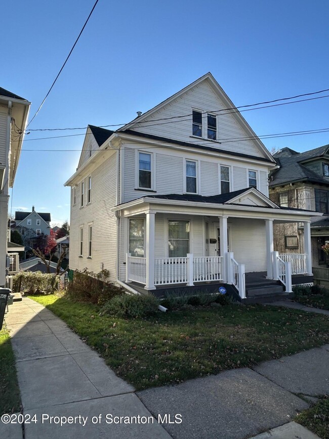
[[[61,317],[137,389],[252,366],[329,342],[328,317],[294,309],[226,305],[124,320],[56,295],[31,299]]]

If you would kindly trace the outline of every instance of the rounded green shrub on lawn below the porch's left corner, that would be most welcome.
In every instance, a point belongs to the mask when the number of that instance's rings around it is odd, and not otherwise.
[[[122,294],[108,301],[102,312],[117,317],[147,317],[157,311],[158,300],[152,295]]]

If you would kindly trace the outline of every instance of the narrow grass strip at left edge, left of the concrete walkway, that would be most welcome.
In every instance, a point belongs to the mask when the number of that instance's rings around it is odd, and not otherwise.
[[[15,356],[5,326],[0,331],[0,415],[21,410]]]

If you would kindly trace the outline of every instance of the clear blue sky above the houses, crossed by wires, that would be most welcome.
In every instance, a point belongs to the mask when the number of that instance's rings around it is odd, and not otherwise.
[[[11,2],[2,5],[6,45],[0,86],[32,102],[30,117],[93,4],[17,0],[15,8]],[[208,71],[237,106],[329,89],[328,21],[325,0],[99,0],[29,128],[126,123]],[[242,114],[256,134],[275,134],[328,128],[328,106],[329,97]],[[84,133],[25,136],[13,211],[34,205],[51,212],[53,223],[69,219],[70,190],[63,183],[75,171],[84,136],[33,139]],[[329,143],[328,137],[263,142],[268,149],[304,151]]]

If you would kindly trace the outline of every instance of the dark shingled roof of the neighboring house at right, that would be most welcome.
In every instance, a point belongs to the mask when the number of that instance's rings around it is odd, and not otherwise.
[[[328,153],[328,150],[329,145],[324,145],[304,152],[296,152],[290,148],[283,148],[276,152],[273,156],[277,159],[280,169],[272,173],[269,186],[281,186],[304,180],[329,184],[329,179],[322,177],[303,165],[304,162],[310,159],[323,157]]]

